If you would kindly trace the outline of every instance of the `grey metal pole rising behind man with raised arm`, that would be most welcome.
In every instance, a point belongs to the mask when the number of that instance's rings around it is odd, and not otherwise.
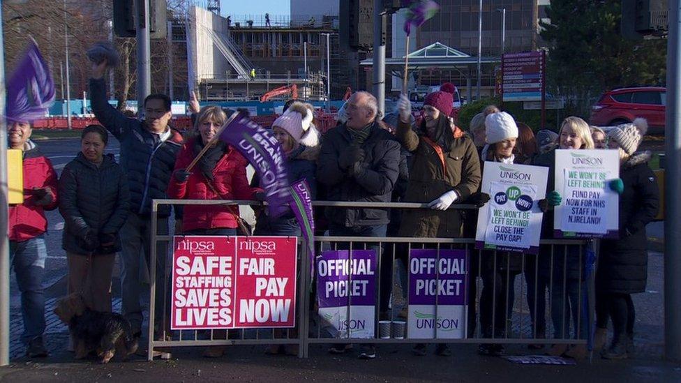
[[[137,118],[144,117],[144,98],[151,93],[151,61],[149,57],[149,1],[135,0],[137,19]]]

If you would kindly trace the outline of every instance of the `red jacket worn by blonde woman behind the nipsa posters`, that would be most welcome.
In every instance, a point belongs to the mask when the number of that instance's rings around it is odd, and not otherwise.
[[[200,140],[200,139],[195,139]],[[194,159],[194,140],[186,142],[175,161],[175,170],[186,169]],[[220,158],[213,169],[213,188],[208,186],[209,179],[193,167],[189,179],[181,183],[170,177],[167,195],[178,200],[253,200],[259,188],[251,188],[246,179],[248,161],[236,149],[228,147],[227,153]],[[216,229],[237,227],[237,206],[191,205],[185,206],[182,218],[182,230]]]

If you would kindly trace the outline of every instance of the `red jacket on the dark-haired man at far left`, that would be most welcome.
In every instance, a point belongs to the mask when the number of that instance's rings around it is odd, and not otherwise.
[[[10,241],[27,241],[47,231],[45,210],[57,208],[57,173],[47,157],[40,153],[35,144],[24,151],[24,203],[9,206],[8,236]],[[52,202],[41,206],[34,203],[33,188],[49,187]]]

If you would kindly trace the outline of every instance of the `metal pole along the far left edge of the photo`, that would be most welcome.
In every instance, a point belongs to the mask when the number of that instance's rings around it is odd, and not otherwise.
[[[2,20],[0,7],[0,20]],[[0,110],[5,110],[5,49],[0,28]],[[7,126],[0,113],[0,366],[10,363],[10,249],[7,236]]]

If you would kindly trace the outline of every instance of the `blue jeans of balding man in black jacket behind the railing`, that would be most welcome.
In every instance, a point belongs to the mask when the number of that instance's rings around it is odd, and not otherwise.
[[[345,227],[336,223],[329,224],[329,235],[331,236],[385,236],[388,230],[388,225],[375,226],[353,226]],[[381,257],[380,269],[380,311],[388,310],[390,303],[390,295],[392,292],[392,276],[393,276],[393,262],[392,256],[388,253],[380,253],[380,245],[375,242],[354,242],[352,243],[353,250],[364,249],[366,243],[367,250],[376,250],[377,257]],[[338,243],[338,250],[347,250],[350,248],[350,243]]]

